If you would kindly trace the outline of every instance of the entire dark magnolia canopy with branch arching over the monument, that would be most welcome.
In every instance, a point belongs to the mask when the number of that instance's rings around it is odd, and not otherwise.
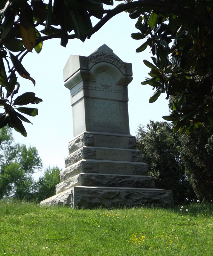
[[[136,52],[148,46],[152,61],[144,60],[151,70],[142,84],[155,89],[149,101],[161,93],[177,96],[170,116],[173,130],[193,134],[197,128],[208,132],[213,126],[212,55],[213,0],[140,0],[121,1],[114,9],[113,0],[1,0],[0,1],[0,128],[9,124],[23,136],[27,132],[22,114],[36,116],[36,108],[26,107],[42,99],[33,92],[18,93],[17,74],[35,80],[21,60],[35,49],[42,50],[44,40],[60,38],[66,46],[69,39],[84,41],[99,30],[110,18],[126,11],[136,19],[138,33],[131,36],[142,40]],[[91,17],[99,19],[94,26]],[[13,52],[13,53],[12,53]],[[18,107],[16,107],[18,106]]]

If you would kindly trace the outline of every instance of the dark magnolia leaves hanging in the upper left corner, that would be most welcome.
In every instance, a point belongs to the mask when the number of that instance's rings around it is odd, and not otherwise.
[[[14,97],[20,88],[17,73],[35,85],[35,80],[21,63],[23,57],[33,49],[41,52],[43,41],[47,39],[60,38],[64,47],[69,38],[84,41],[92,34],[91,16],[102,19],[103,3],[113,5],[113,1],[106,0],[49,0],[48,4],[42,0],[0,2],[0,106],[4,107],[0,113],[0,128],[8,124],[26,137],[22,121],[30,121],[22,114],[38,114],[37,108],[16,108],[16,105],[42,101],[33,92]],[[74,34],[70,35],[71,32]],[[14,55],[12,52],[18,53]]]

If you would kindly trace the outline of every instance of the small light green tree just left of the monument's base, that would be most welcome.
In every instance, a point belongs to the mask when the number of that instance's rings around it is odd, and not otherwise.
[[[43,176],[37,182],[37,198],[39,201],[55,195],[55,186],[60,183],[60,171],[57,166],[48,167],[44,170]]]

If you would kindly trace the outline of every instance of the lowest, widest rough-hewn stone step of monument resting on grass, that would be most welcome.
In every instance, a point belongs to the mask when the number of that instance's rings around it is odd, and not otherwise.
[[[77,186],[47,198],[41,205],[68,205],[72,208],[140,206],[173,204],[170,190],[156,188]]]

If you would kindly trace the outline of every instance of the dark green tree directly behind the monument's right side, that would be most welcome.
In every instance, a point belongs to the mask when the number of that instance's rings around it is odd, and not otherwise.
[[[176,204],[196,198],[180,158],[180,134],[172,131],[172,125],[150,121],[146,130],[139,126],[136,138],[143,162],[155,178],[155,187],[172,190]]]

